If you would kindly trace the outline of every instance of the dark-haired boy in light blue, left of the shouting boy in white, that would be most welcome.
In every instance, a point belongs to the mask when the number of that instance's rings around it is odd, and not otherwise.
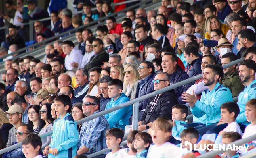
[[[152,144],[150,134],[146,132],[137,133],[134,140],[134,148],[137,149],[135,158],[146,158],[150,144]]]

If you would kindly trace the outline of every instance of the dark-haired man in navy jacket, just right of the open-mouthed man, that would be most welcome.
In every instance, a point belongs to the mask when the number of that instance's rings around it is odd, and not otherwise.
[[[183,54],[185,60],[188,62],[188,65],[185,68],[185,71],[188,73],[188,76],[193,77],[201,74],[202,58],[199,57],[198,48],[194,46],[185,47]]]

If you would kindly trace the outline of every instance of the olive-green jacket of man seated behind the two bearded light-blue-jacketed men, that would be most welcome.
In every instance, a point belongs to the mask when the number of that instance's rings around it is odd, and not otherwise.
[[[238,70],[234,71],[228,76],[223,77],[222,84],[230,89],[233,98],[237,97],[239,93],[244,90],[244,85],[239,78]]]

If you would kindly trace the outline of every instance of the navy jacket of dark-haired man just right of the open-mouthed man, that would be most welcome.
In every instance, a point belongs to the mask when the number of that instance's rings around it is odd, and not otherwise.
[[[202,61],[202,57],[199,57],[193,60],[191,64],[187,65],[187,67],[185,68],[185,71],[188,73],[189,77],[202,74],[201,61]]]

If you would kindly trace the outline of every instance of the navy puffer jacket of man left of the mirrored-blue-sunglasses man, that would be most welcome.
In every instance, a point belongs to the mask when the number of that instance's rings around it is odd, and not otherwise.
[[[140,93],[140,96],[143,96],[143,95],[146,95],[146,94],[152,92],[152,80],[153,80],[153,77],[154,77],[154,75],[151,74],[151,75],[148,76],[148,78],[146,78],[145,82],[142,79],[140,80],[140,82],[139,82],[139,84],[137,86],[135,98],[137,98],[139,96],[139,93]],[[140,85],[143,85],[141,90],[140,90]],[[148,99],[140,101],[139,102],[139,110],[146,109],[147,104],[148,104]]]

